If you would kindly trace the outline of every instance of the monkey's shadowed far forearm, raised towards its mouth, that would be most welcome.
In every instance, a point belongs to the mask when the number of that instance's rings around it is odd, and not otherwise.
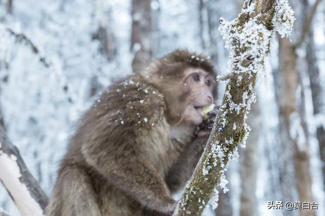
[[[196,138],[187,146],[184,152],[180,154],[178,160],[170,168],[166,176],[166,183],[172,193],[184,188],[186,182],[192,176],[208,138],[209,136]]]

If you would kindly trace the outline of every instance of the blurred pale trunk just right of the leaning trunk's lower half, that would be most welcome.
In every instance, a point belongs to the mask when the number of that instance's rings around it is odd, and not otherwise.
[[[256,176],[258,161],[258,138],[261,120],[259,118],[258,103],[252,105],[247,123],[251,132],[247,138],[246,148],[242,150],[240,179],[242,191],[240,195],[240,216],[254,216],[256,214]]]

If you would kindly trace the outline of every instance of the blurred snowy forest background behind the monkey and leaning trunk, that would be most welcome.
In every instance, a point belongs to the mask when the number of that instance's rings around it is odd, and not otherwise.
[[[297,18],[261,71],[252,131],[208,215],[325,215],[325,3],[289,1]],[[243,0],[0,0],[0,123],[47,195],[78,117],[113,80],[176,48],[228,53],[220,17]],[[224,83],[218,83],[219,104]],[[0,170],[1,172],[1,170]],[[268,201],[315,201],[316,211]],[[0,206],[14,206],[0,186]]]

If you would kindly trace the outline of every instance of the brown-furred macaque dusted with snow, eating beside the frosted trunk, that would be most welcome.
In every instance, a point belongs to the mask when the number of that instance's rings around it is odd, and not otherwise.
[[[214,122],[215,77],[176,50],[114,82],[80,119],[46,215],[171,215]]]

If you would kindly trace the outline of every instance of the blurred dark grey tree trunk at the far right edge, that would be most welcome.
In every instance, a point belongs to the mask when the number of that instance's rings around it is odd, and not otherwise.
[[[314,35],[312,31],[309,33],[309,41],[307,44],[307,62],[308,74],[310,80],[310,89],[313,102],[313,113],[317,119],[317,115],[324,115],[324,93],[319,76],[319,68],[317,66],[316,49],[314,44]],[[316,137],[319,146],[319,155],[322,161],[323,185],[325,186],[325,129],[324,124],[318,123],[316,129]]]

